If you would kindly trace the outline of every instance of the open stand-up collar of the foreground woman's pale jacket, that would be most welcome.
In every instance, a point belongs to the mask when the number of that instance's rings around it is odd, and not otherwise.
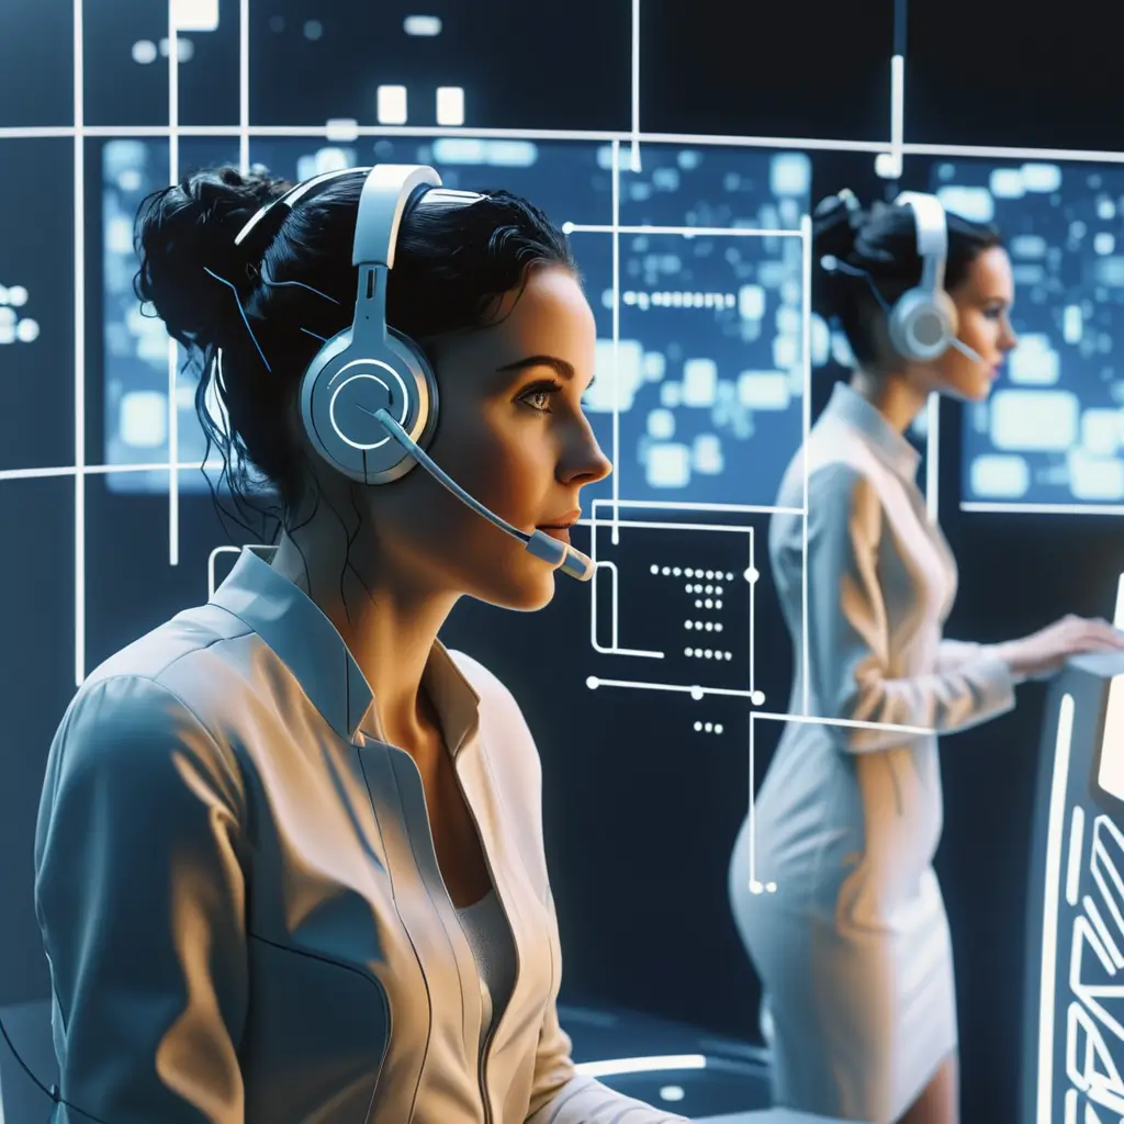
[[[292,672],[308,700],[341,736],[384,741],[374,694],[335,625],[315,601],[270,564],[274,546],[246,546],[212,605],[252,628]],[[475,733],[480,696],[441,641],[422,679],[441,717],[450,753]]]

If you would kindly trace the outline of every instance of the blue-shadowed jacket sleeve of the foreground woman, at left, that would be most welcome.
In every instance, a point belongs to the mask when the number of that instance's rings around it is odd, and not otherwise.
[[[71,705],[35,845],[56,1121],[243,1124],[243,795],[233,755],[156,682]]]

